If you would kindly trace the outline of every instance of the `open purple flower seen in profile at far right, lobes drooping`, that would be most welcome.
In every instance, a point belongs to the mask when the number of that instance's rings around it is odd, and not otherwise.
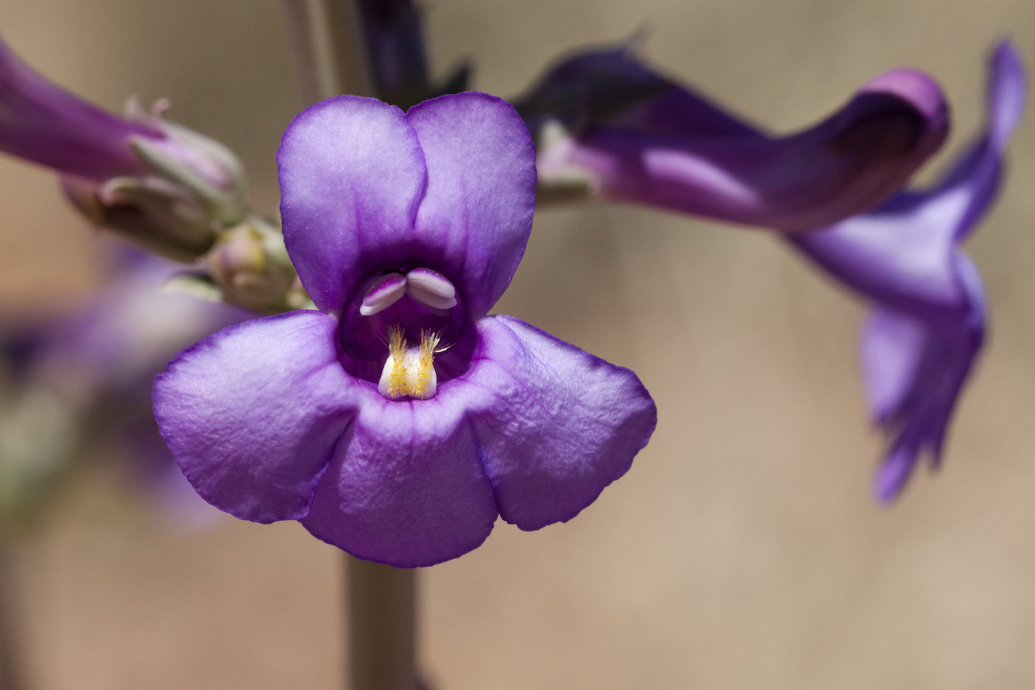
[[[989,72],[984,132],[931,189],[906,191],[870,213],[789,237],[876,303],[860,358],[870,415],[893,439],[874,482],[882,503],[898,496],[922,454],[938,467],[984,339],[981,279],[959,243],[996,199],[1026,98],[1024,65],[1011,43],[999,44]]]

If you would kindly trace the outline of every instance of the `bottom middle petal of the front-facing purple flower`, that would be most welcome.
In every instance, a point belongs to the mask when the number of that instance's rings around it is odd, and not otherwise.
[[[493,488],[465,416],[463,384],[428,400],[371,391],[302,520],[353,556],[398,568],[470,551],[496,521]]]

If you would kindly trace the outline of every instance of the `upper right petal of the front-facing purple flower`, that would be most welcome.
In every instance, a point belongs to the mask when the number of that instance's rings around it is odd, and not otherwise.
[[[427,164],[418,233],[430,267],[449,276],[469,313],[484,314],[510,283],[535,209],[535,148],[521,117],[484,93],[425,100],[407,113]]]

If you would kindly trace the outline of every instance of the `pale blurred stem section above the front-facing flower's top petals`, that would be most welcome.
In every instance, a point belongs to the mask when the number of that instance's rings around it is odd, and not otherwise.
[[[282,6],[306,106],[343,93],[377,95],[355,2],[283,0]]]

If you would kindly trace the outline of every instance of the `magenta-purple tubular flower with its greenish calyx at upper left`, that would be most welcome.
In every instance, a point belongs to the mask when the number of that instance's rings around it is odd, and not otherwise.
[[[191,261],[247,212],[240,162],[223,145],[130,100],[99,110],[36,73],[0,40],[0,151],[53,168],[90,219]]]

